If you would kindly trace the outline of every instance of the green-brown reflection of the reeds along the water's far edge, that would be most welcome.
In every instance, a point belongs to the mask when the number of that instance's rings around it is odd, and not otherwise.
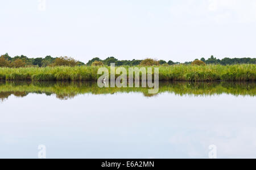
[[[159,93],[164,92],[176,95],[243,95],[255,96],[256,83],[252,82],[160,82]],[[144,96],[148,94],[148,88],[100,88],[95,82],[0,82],[0,99],[7,99],[10,95],[23,97],[28,93],[55,94],[59,99],[70,99],[80,94],[117,94],[139,92]],[[157,95],[157,94],[156,94]]]

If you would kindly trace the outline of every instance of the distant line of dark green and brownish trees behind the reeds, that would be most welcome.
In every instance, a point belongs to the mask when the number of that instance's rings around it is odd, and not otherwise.
[[[216,64],[216,65],[234,65],[234,64],[242,64],[242,63],[251,63],[256,64],[256,58],[223,58],[223,59],[217,59],[216,57],[211,56],[208,59],[201,58],[195,59],[195,61],[202,61],[203,64]],[[182,64],[185,65],[193,65],[194,63],[200,64],[200,62],[185,62]],[[180,62],[174,62],[174,61],[164,61],[164,60],[155,60],[155,59],[133,59],[133,60],[118,60],[114,57],[108,57],[106,59],[100,59],[100,58],[93,58],[88,63],[86,63],[86,66],[102,66],[107,65],[110,66],[110,63],[115,63],[116,66],[138,66],[138,65],[144,65],[144,66],[150,66],[150,65],[177,65],[181,64]],[[202,64],[202,63],[201,63]],[[2,55],[0,57],[0,67],[47,67],[47,66],[84,66],[85,63],[81,61],[76,61],[75,59],[71,57],[51,57],[46,56],[45,58],[28,58],[27,56],[15,56],[10,57],[8,53],[5,55]]]

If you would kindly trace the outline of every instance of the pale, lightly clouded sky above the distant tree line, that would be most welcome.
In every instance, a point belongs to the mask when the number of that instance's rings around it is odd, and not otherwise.
[[[0,1],[0,54],[87,62],[255,57],[255,0]]]

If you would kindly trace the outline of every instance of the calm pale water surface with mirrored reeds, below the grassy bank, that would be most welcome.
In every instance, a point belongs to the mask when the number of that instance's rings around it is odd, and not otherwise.
[[[256,158],[255,83],[0,82],[0,158]]]

